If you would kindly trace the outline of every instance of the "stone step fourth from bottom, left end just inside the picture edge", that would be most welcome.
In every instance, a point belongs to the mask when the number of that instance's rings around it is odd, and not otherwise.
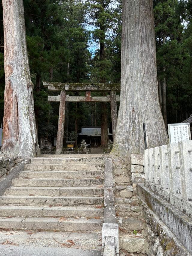
[[[103,186],[103,185],[100,185]],[[49,195],[49,196],[102,196],[104,187],[9,187],[4,195]]]

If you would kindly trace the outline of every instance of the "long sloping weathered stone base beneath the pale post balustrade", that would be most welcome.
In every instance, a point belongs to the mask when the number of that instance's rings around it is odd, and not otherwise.
[[[155,215],[161,219],[162,222],[172,231],[174,234],[174,244],[173,247],[176,248],[177,251],[180,251],[174,255],[191,255],[192,248],[192,219],[186,216],[181,211],[177,210],[173,205],[167,203],[164,199],[159,197],[158,195],[151,192],[147,189],[144,184],[137,185],[138,196],[142,199],[147,206],[152,210]],[[153,226],[152,223],[150,223]],[[156,225],[156,231],[158,231],[159,221]],[[164,229],[163,229],[164,230]],[[160,232],[161,233],[161,232]],[[163,243],[171,241],[170,238],[166,240],[165,235],[160,235]],[[182,244],[181,244],[182,243]],[[184,245],[184,246],[182,246]],[[166,244],[165,244],[166,246]],[[188,251],[187,251],[188,250]]]

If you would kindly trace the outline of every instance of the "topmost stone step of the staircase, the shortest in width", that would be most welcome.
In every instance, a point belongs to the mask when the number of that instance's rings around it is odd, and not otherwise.
[[[32,164],[100,164],[104,165],[104,157],[81,157],[81,158],[47,158],[35,157],[31,159]]]

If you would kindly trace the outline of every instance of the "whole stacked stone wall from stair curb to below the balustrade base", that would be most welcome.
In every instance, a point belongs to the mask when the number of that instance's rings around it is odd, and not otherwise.
[[[145,182],[143,155],[131,155],[125,166],[113,159],[116,219],[120,255],[187,255],[188,251],[169,228],[138,196]]]

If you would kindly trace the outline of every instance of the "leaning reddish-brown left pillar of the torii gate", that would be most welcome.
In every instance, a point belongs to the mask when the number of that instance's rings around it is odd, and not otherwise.
[[[64,135],[64,123],[65,123],[65,97],[66,97],[66,92],[61,91],[58,130],[57,130],[57,144],[56,144],[55,154],[60,154],[63,149],[63,135]]]

